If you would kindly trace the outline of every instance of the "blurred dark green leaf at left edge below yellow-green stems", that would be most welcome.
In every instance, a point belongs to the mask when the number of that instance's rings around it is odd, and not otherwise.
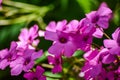
[[[25,26],[25,23],[14,24],[1,27],[0,29],[0,48],[9,47],[11,41],[18,40],[20,29]]]

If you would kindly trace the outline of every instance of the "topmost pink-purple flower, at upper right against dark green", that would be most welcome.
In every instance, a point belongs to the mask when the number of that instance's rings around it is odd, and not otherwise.
[[[107,29],[108,22],[112,17],[112,10],[107,7],[106,3],[102,3],[97,11],[86,14],[86,17],[96,26]]]

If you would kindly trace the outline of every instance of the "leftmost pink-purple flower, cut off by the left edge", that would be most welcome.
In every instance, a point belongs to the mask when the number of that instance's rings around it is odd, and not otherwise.
[[[10,49],[0,51],[0,69],[4,70],[13,60],[17,58],[17,44],[11,42]]]

